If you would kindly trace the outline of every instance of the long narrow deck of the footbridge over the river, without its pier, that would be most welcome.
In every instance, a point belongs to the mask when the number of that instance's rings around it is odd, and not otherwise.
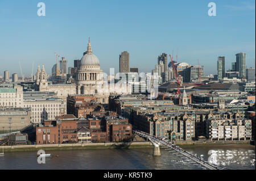
[[[188,159],[191,159],[191,161],[196,162],[197,164],[204,167],[205,169],[220,170],[219,167],[214,166],[214,165],[210,164],[209,162],[204,161],[202,158],[196,157],[195,155],[188,153],[186,150],[180,148],[179,146],[176,146],[175,144],[171,144],[167,141],[164,141],[158,137],[152,136],[152,135],[142,132],[142,131],[133,131],[133,132],[138,134],[141,137],[148,138],[148,140],[150,140],[151,142],[154,141],[154,143],[152,142],[152,144],[155,144],[155,142],[159,142],[160,144],[167,146],[168,148],[170,148],[172,150],[175,150],[177,153],[183,155],[184,157],[186,157]]]

